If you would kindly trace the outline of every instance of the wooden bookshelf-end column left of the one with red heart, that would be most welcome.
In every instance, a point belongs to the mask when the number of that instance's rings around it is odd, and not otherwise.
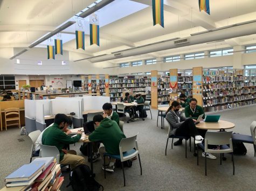
[[[157,109],[157,70],[151,71],[151,107]]]

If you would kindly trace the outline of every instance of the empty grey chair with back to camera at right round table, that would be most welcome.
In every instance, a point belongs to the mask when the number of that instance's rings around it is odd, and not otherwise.
[[[220,145],[220,149],[209,149],[208,145]],[[229,144],[229,146],[227,146]],[[233,145],[232,145],[232,131],[230,132],[209,132],[207,131],[204,138],[204,145],[202,143],[197,144],[204,150],[204,152],[210,153],[220,153],[220,165],[222,165],[222,153],[232,154],[233,162],[233,175],[234,175],[234,156],[233,156]],[[207,175],[206,170],[206,155],[205,155],[205,175]],[[198,147],[197,147],[197,165],[198,165]]]

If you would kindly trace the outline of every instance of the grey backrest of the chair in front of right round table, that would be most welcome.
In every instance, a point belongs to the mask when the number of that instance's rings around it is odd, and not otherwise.
[[[205,134],[205,146],[206,144],[212,145],[225,145],[231,144],[232,146],[232,131],[224,131],[224,132],[209,132],[207,131]]]

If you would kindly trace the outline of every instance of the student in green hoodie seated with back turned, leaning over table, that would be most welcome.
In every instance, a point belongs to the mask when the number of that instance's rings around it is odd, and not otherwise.
[[[102,159],[104,159],[103,154],[108,152],[112,155],[119,155],[119,143],[122,138],[126,138],[118,124],[107,118],[107,114],[95,115],[93,117],[93,122],[96,124],[96,129],[91,135],[89,135],[89,141],[96,142],[99,141],[103,143],[104,146],[99,148],[99,153]],[[106,171],[114,172],[115,159],[105,157]],[[104,166],[102,166],[104,170]]]

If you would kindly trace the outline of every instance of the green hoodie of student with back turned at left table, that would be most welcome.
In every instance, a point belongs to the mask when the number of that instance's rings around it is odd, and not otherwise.
[[[119,143],[122,138],[126,138],[126,136],[122,133],[120,127],[115,121],[108,118],[103,119],[100,126],[89,135],[89,141],[103,143],[106,152],[112,155],[120,154]]]

